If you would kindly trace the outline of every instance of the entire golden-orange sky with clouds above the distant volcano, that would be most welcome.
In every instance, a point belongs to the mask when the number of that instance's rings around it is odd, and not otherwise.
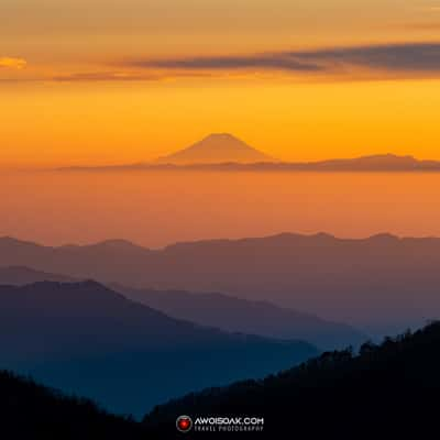
[[[440,1],[2,0],[0,166],[231,132],[288,161],[439,158]]]

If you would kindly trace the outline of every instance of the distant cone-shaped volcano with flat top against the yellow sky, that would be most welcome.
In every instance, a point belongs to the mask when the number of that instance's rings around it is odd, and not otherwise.
[[[200,142],[157,160],[168,164],[219,164],[273,162],[274,158],[261,153],[229,133],[213,133]]]

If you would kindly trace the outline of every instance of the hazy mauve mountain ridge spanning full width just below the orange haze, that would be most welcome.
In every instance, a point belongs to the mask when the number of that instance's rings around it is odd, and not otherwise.
[[[440,239],[391,234],[338,239],[284,233],[162,250],[47,248],[0,239],[0,266],[136,288],[221,292],[346,322],[369,334],[394,333],[439,317],[439,261]]]

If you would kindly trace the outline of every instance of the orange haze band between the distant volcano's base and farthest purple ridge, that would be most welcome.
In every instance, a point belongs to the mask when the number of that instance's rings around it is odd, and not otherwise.
[[[2,174],[0,237],[146,246],[280,232],[440,237],[437,173]]]

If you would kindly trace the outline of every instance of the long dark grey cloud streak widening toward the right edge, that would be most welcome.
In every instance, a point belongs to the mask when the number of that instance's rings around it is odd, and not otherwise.
[[[440,74],[440,43],[384,45],[287,51],[237,56],[190,56],[167,59],[135,59],[125,63],[136,68],[182,70],[288,70],[338,73],[348,68],[393,73]]]

